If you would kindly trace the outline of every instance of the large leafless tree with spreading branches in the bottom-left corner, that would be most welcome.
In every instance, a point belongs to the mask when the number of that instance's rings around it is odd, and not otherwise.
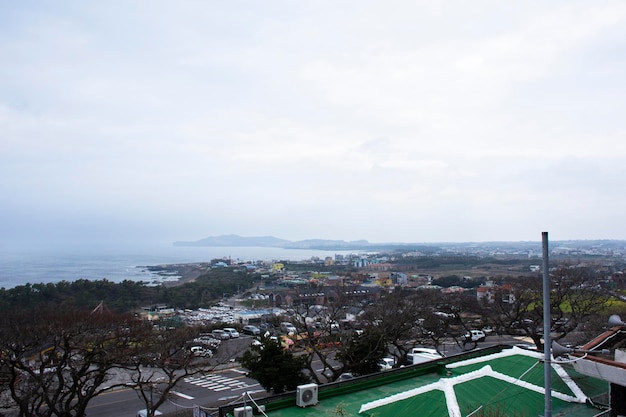
[[[81,417],[109,387],[120,360],[128,315],[58,311],[5,312],[0,317],[0,366],[8,377],[5,407],[20,417]]]

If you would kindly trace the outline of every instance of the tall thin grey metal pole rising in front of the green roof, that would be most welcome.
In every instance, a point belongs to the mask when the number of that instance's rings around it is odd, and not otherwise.
[[[543,375],[545,386],[544,417],[552,417],[552,363],[550,340],[550,270],[548,263],[548,232],[541,232],[543,246]]]

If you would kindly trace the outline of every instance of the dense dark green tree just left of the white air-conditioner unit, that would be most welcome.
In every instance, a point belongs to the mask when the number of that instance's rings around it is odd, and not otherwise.
[[[303,371],[305,358],[294,356],[268,337],[261,337],[261,344],[252,346],[240,361],[249,370],[250,378],[256,379],[263,388],[275,394],[295,390],[298,385],[310,381]]]

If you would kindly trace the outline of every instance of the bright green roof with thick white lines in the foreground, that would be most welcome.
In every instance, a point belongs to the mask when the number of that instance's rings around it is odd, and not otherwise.
[[[495,353],[490,353],[494,352]],[[539,416],[544,413],[543,354],[498,347],[444,361],[355,378],[319,387],[319,402],[298,407],[295,396],[271,398],[269,417],[461,417]],[[473,357],[472,357],[473,356]],[[600,410],[587,401],[608,392],[605,381],[578,374],[568,364],[552,363],[553,416],[586,417]],[[265,401],[264,401],[265,402]],[[279,408],[280,407],[280,408]]]

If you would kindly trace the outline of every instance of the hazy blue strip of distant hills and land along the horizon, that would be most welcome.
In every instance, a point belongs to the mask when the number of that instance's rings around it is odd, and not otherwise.
[[[441,242],[441,243],[371,243],[367,240],[327,240],[306,239],[290,241],[274,236],[239,236],[221,235],[212,236],[195,241],[176,241],[174,246],[204,246],[204,247],[267,247],[282,249],[317,249],[317,250],[355,250],[355,251],[421,251],[425,254],[435,253],[443,248],[455,248],[473,252],[482,250],[519,250],[541,252],[541,241],[523,242]],[[552,241],[551,248],[566,247],[569,249],[623,249],[626,247],[624,240],[567,240]]]

